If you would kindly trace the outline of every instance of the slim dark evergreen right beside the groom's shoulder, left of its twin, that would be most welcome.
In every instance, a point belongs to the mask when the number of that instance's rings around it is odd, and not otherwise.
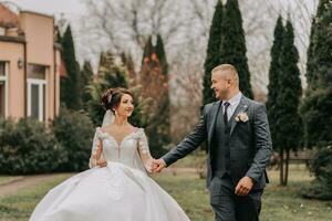
[[[271,129],[271,137],[273,140],[273,146],[278,147],[278,139],[277,139],[277,123],[278,123],[278,93],[280,91],[279,85],[279,76],[282,74],[282,66],[280,63],[282,56],[282,43],[283,43],[283,35],[284,35],[284,28],[282,24],[282,18],[279,15],[277,20],[277,24],[274,28],[274,40],[273,45],[271,49],[271,64],[269,71],[269,85],[268,85],[268,101],[267,101],[267,109],[268,109],[268,117],[270,123]]]

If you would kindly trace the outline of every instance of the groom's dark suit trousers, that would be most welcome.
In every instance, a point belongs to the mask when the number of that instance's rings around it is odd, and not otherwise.
[[[235,194],[230,178],[214,177],[210,183],[210,204],[216,221],[258,221],[263,190],[251,190],[248,196]]]

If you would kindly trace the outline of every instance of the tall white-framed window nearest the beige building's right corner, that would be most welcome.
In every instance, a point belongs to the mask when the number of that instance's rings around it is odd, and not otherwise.
[[[28,116],[46,119],[46,66],[28,65]]]

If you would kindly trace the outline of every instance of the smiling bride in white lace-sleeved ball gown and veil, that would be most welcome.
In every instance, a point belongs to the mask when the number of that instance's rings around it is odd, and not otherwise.
[[[50,190],[30,221],[188,221],[146,173],[153,170],[147,138],[127,122],[134,110],[132,93],[111,88],[102,103],[107,110],[93,139],[91,169]]]

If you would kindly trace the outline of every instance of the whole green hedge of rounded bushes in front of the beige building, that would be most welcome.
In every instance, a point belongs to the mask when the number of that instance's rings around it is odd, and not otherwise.
[[[0,173],[87,169],[93,133],[85,113],[65,108],[49,128],[33,118],[0,118]]]

